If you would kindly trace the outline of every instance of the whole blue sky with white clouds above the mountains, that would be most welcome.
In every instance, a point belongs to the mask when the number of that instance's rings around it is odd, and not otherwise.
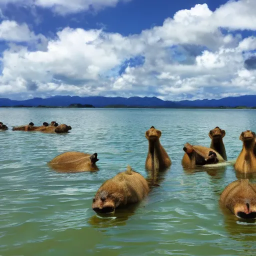
[[[0,97],[256,94],[256,0],[0,0]]]

